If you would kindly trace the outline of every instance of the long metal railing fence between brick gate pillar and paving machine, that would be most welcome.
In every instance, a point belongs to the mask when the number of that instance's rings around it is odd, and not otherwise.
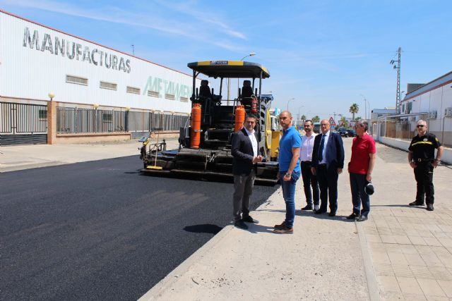
[[[57,133],[178,131],[188,119],[168,113],[57,107]]]

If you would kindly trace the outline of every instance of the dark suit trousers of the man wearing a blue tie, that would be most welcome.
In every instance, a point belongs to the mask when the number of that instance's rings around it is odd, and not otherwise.
[[[335,213],[338,210],[338,168],[336,166],[326,168],[325,164],[321,164],[316,168],[316,171],[320,186],[320,210],[326,211],[329,198],[330,210]]]

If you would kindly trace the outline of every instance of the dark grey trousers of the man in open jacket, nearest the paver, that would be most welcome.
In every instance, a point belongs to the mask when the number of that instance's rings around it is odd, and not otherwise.
[[[249,175],[234,175],[234,195],[232,197],[234,221],[242,219],[242,214],[243,217],[249,216],[249,197],[253,193],[255,178],[254,168]]]

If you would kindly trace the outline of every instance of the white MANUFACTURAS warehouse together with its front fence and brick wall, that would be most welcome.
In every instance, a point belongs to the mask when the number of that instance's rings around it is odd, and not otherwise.
[[[178,132],[193,93],[191,75],[6,11],[0,81],[0,145]]]

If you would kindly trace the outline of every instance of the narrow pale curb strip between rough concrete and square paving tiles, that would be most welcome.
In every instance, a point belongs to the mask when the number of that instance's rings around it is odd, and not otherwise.
[[[372,264],[372,257],[370,254],[369,245],[367,244],[366,235],[362,223],[355,221],[358,231],[359,246],[361,248],[362,259],[364,264],[364,271],[366,272],[367,289],[369,290],[369,299],[371,301],[382,300],[379,290],[379,283],[376,280],[374,264]]]

